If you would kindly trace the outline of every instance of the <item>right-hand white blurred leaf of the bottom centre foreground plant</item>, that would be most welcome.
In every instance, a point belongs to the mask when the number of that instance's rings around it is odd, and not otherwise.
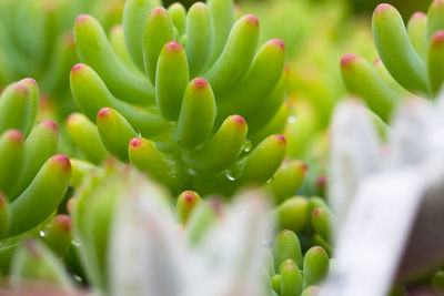
[[[239,197],[226,210],[199,249],[188,254],[194,278],[185,280],[185,296],[266,295],[262,243],[272,227],[268,210],[259,192]]]

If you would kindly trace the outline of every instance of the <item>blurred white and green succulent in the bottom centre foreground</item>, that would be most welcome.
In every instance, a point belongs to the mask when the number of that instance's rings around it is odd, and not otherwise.
[[[194,198],[195,193],[183,193],[178,214]],[[250,196],[232,208],[216,201],[193,203],[181,225],[182,215],[174,217],[163,190],[111,163],[75,194],[74,239],[89,282],[112,295],[268,295],[265,202]]]

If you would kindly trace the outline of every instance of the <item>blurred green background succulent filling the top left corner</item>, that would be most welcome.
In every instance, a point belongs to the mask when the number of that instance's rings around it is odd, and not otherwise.
[[[0,89],[23,76],[33,76],[41,91],[61,104],[58,111],[63,112],[69,95],[69,71],[78,61],[70,33],[75,17],[92,13],[108,30],[121,20],[122,3],[122,0],[2,0]]]

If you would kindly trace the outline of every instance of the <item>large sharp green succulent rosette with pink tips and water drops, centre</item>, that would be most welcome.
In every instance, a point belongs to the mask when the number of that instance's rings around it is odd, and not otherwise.
[[[293,195],[300,183],[290,180],[301,180],[302,164],[279,171],[286,146],[279,133],[290,114],[283,42],[256,51],[259,20],[235,21],[231,0],[195,3],[188,12],[178,3],[158,6],[128,0],[111,42],[94,18],[78,17],[74,39],[84,63],[72,69],[71,89],[81,120],[97,124],[98,133],[85,123],[88,136],[100,136],[111,154],[174,194],[231,195],[270,181],[279,198]],[[88,155],[87,145],[78,143]],[[273,185],[276,171],[286,188]]]

